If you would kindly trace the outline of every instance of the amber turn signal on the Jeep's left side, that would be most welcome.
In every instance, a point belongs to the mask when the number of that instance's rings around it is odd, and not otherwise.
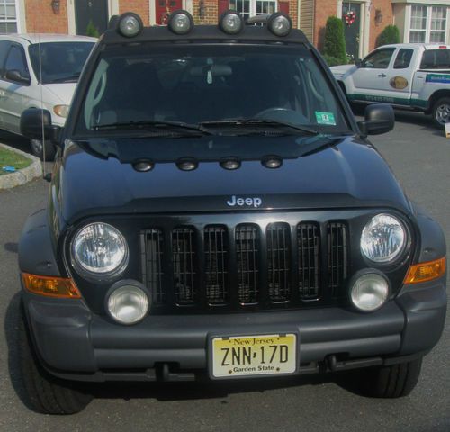
[[[22,279],[25,288],[33,294],[66,299],[79,299],[81,297],[75,282],[67,277],[23,273]]]

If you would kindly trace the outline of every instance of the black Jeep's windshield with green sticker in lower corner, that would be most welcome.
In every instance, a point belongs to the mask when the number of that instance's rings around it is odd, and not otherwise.
[[[257,119],[259,121],[248,121]],[[143,124],[348,131],[322,69],[302,45],[159,44],[107,47],[76,131],[132,133]],[[120,126],[120,128],[119,128]],[[117,133],[117,130],[115,133]]]

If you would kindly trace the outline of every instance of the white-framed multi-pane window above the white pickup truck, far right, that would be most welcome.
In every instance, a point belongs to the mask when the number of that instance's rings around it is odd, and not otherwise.
[[[411,6],[410,42],[446,43],[446,6]]]

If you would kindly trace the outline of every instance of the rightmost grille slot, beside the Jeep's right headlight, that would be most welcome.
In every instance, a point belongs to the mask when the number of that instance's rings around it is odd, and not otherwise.
[[[347,226],[330,222],[327,227],[329,245],[329,289],[337,295],[338,288],[347,278]]]

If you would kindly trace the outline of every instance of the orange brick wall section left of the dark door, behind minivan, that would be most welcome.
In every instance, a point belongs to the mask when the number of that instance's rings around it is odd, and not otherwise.
[[[53,14],[51,2],[25,1],[27,32],[67,33],[67,0],[60,0],[59,14]]]

